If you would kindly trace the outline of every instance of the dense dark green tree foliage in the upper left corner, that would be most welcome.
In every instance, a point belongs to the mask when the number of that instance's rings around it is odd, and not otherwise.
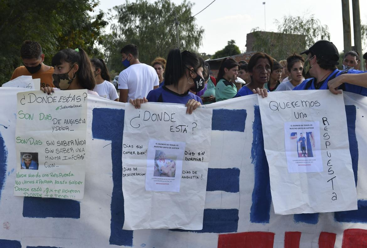
[[[24,40],[41,44],[48,65],[64,48],[81,47],[90,56],[103,56],[97,44],[103,44],[108,22],[102,11],[93,15],[98,4],[98,0],[1,0],[0,85],[22,65],[20,48]]]

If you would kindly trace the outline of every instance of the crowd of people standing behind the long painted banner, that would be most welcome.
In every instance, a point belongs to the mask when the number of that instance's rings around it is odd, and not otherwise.
[[[157,57],[151,66],[139,61],[134,44],[124,46],[120,53],[125,67],[118,79],[120,95],[110,82],[103,59],[90,59],[82,48],[63,49],[47,66],[40,44],[29,40],[21,47],[24,66],[16,68],[11,79],[32,75],[40,78],[41,90],[51,95],[55,88],[87,89],[89,94],[130,102],[135,108],[148,101],[185,104],[188,114],[202,104],[255,93],[266,97],[269,92],[282,90],[329,89],[338,94],[342,89],[367,96],[367,73],[357,70],[359,53],[345,52],[342,70],[338,70],[338,49],[326,40],[279,62],[263,52],[255,53],[248,62],[224,58],[216,77],[209,64],[190,51],[172,49],[167,60]],[[367,62],[367,53],[363,59]]]

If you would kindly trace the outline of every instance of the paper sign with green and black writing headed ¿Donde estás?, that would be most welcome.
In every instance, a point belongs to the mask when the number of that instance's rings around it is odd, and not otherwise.
[[[15,196],[82,199],[87,90],[17,94]]]

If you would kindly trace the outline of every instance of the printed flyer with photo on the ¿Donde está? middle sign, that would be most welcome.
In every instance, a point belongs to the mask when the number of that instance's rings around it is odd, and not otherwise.
[[[149,140],[145,189],[180,191],[185,142]]]

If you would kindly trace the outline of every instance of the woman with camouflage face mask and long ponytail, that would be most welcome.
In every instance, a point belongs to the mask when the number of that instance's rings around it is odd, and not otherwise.
[[[51,64],[55,68],[52,78],[56,88],[87,89],[88,94],[98,96],[97,92],[92,91],[95,86],[95,77],[90,58],[83,49],[63,49],[52,57]],[[54,88],[51,87],[41,87],[41,90],[49,95],[54,92]]]

